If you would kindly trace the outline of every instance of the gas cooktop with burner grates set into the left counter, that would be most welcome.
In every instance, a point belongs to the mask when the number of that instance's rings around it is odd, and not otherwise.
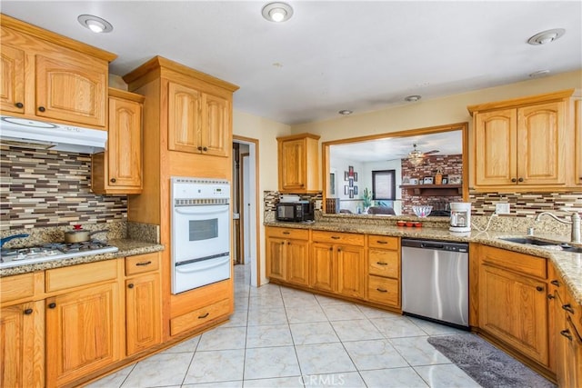
[[[73,244],[50,243],[29,248],[3,249],[0,251],[0,269],[117,251],[116,246],[101,241]]]

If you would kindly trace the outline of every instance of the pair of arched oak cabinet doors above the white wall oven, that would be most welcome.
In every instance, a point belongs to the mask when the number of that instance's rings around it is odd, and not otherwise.
[[[227,156],[231,104],[185,85],[168,83],[168,149]]]

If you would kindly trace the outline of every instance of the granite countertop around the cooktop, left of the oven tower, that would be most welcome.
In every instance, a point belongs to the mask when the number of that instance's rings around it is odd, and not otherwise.
[[[131,239],[111,239],[107,241],[108,244],[116,246],[119,250],[117,252],[108,254],[93,254],[83,257],[73,257],[70,259],[55,260],[53,262],[25,264],[10,268],[0,269],[0,277],[10,276],[13,274],[26,274],[35,271],[44,271],[52,268],[66,267],[69,265],[85,264],[101,262],[104,260],[117,259],[125,256],[135,256],[135,254],[149,254],[152,252],[159,252],[165,249],[162,244],[144,243],[138,240]]]

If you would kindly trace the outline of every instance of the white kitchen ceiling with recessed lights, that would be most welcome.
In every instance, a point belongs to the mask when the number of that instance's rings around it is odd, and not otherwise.
[[[582,68],[580,1],[288,1],[284,24],[266,3],[3,0],[2,13],[117,54],[115,75],[154,55],[215,75],[240,86],[236,110],[285,124]],[[114,31],[91,33],[82,14]],[[527,45],[551,28],[566,35]]]

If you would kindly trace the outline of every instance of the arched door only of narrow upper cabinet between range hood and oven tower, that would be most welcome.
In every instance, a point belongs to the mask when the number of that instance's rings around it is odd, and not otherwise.
[[[142,186],[141,104],[109,97],[108,184]]]

